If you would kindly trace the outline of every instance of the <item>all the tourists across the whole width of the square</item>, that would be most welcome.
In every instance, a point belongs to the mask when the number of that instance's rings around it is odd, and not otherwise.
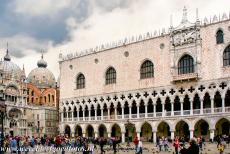
[[[134,150],[135,154],[143,153],[143,145],[141,139],[137,136],[132,140],[134,147],[126,150]],[[217,143],[217,149],[220,154],[223,154],[225,148],[229,145],[230,137],[226,135],[216,136],[214,141]],[[29,137],[29,136],[5,136],[1,141],[1,150],[10,151],[16,154],[52,152],[61,151],[63,154],[68,150],[81,152],[83,154],[93,154],[95,151],[104,154],[107,150],[112,150],[114,153],[119,153],[119,150],[124,151],[124,145],[120,145],[121,139],[118,137],[111,138],[85,138],[57,135],[55,137]],[[188,144],[189,143],[189,144]],[[189,145],[189,146],[188,146]],[[198,137],[188,140],[185,137],[175,137],[171,140],[167,137],[157,137],[156,147],[158,152],[166,151],[175,154],[199,154],[204,149],[206,140],[204,137]],[[126,146],[130,146],[128,143]],[[172,149],[173,147],[173,149]]]

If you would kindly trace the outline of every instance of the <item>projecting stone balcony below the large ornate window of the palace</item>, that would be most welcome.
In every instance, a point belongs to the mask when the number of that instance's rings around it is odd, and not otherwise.
[[[175,83],[175,82],[182,82],[182,81],[198,80],[199,75],[197,71],[197,65],[194,65],[194,67],[190,71],[188,71],[191,73],[185,73],[185,72],[179,73],[178,67],[173,68],[172,82]]]

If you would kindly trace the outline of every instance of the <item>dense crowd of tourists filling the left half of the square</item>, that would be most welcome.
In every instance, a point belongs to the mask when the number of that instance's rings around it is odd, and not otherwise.
[[[1,140],[1,151],[16,154],[28,154],[39,152],[56,153],[61,151],[63,154],[68,151],[82,152],[83,154],[93,154],[94,150],[100,150],[105,153],[105,145],[117,153],[117,147],[120,147],[118,137],[107,138],[86,138],[57,135],[55,137],[30,137],[30,136],[5,136]],[[100,148],[99,148],[100,147]]]

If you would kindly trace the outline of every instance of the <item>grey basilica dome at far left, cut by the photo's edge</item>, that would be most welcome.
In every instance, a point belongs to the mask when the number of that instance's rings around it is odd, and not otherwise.
[[[24,72],[20,67],[11,61],[8,49],[4,60],[0,61],[0,73],[4,78],[15,81],[21,81],[24,77]]]

